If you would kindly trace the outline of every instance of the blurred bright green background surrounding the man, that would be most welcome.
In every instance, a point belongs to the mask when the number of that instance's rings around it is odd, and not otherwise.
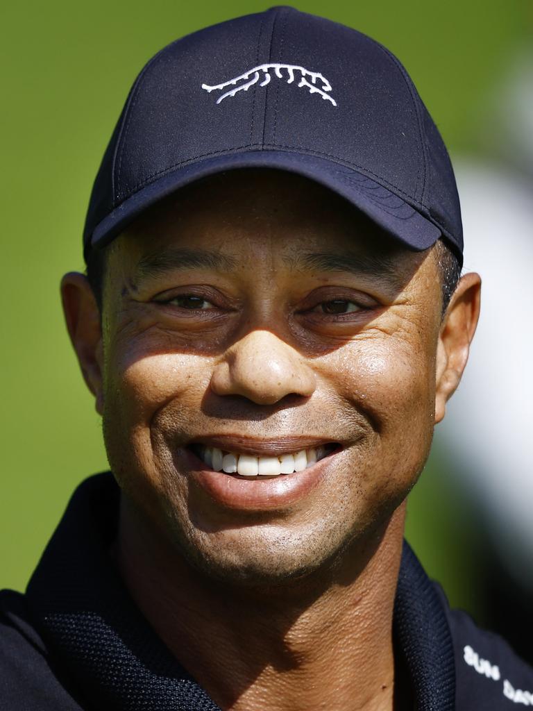
[[[50,0],[4,3],[0,10],[0,587],[25,587],[75,485],[107,466],[99,417],[63,326],[58,282],[63,272],[83,269],[90,188],[129,86],[146,60],[176,37],[267,6]],[[490,150],[480,126],[508,58],[531,36],[530,0],[295,6],[391,48],[452,156]],[[411,495],[407,535],[451,602],[479,619],[475,524],[447,468],[437,447]]]

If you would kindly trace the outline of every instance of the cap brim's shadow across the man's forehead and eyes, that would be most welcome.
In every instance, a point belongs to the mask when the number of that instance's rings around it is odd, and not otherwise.
[[[427,256],[328,188],[271,169],[183,188],[107,252],[109,328],[157,332],[151,353],[211,358],[252,333],[262,351],[284,342],[321,357],[393,306]],[[438,290],[424,296],[433,311]]]

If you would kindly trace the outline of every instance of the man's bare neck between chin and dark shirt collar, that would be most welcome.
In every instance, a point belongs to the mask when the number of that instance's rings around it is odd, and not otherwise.
[[[117,557],[126,585],[223,710],[392,710],[404,506],[320,577],[268,589],[206,579],[134,516],[123,506]]]

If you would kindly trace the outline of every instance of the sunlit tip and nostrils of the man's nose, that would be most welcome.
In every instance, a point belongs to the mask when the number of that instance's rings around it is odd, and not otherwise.
[[[242,395],[258,405],[274,405],[286,395],[309,397],[315,387],[315,374],[298,351],[270,331],[237,341],[211,377],[217,395]]]

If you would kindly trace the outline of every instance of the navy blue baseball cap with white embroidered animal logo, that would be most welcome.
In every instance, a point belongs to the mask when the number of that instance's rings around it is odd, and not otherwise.
[[[407,247],[443,237],[462,260],[451,162],[406,70],[290,7],[205,28],[146,64],[95,180],[85,256],[178,188],[251,167],[311,178]]]

